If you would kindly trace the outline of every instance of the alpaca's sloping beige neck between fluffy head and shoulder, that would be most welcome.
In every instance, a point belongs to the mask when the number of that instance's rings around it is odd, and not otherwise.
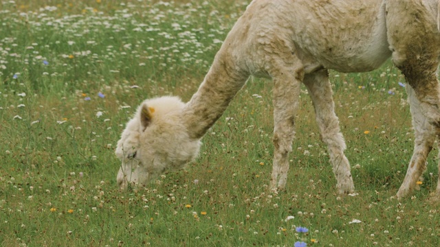
[[[249,74],[233,67],[230,57],[220,57],[225,56],[217,54],[199,90],[184,108],[184,122],[192,139],[203,137],[248,80]]]

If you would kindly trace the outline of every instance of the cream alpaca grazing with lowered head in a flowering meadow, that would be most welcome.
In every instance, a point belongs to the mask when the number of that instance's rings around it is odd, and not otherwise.
[[[144,184],[191,161],[200,139],[250,75],[272,78],[274,164],[271,186],[283,189],[292,151],[300,84],[309,91],[337,180],[354,190],[334,111],[328,69],[377,69],[390,56],[405,75],[415,150],[398,197],[414,189],[440,134],[437,0],[254,0],[236,22],[190,101],[164,97],[142,103],[122,133],[118,184]],[[440,194],[440,184],[437,186]]]

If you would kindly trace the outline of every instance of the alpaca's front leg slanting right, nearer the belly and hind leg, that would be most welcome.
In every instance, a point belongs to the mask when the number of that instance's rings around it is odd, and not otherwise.
[[[336,117],[328,73],[327,69],[322,69],[306,75],[304,84],[307,86],[314,104],[316,122],[320,129],[322,141],[327,144],[333,173],[337,180],[338,193],[351,193],[355,187],[351,177],[349,161],[344,155],[346,145],[340,132],[338,117]]]

